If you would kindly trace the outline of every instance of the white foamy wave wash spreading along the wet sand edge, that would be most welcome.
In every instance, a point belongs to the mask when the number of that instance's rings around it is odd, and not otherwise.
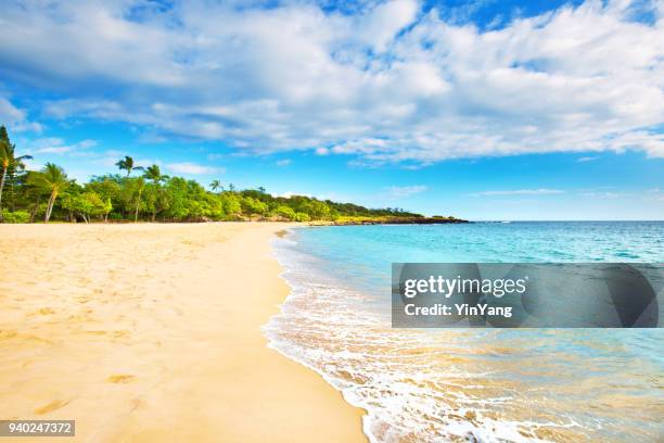
[[[501,418],[496,412],[516,407],[515,398],[509,389],[483,383],[490,372],[446,359],[454,346],[433,350],[431,336],[392,330],[385,318],[362,308],[370,296],[331,280],[318,258],[296,244],[292,238],[273,243],[292,292],[263,332],[269,347],[317,371],[367,410],[363,431],[371,442],[541,442],[535,433],[541,427],[575,426]]]

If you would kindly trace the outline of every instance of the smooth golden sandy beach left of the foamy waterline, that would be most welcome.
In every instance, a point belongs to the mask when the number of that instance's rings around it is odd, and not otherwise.
[[[366,441],[260,332],[289,291],[283,228],[0,225],[0,418],[75,419],[85,442]]]

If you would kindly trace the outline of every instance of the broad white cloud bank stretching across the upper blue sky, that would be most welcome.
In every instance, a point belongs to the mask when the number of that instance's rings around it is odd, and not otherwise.
[[[52,118],[260,152],[664,156],[664,9],[637,3],[590,0],[480,29],[414,0],[353,14],[306,1],[26,0],[3,8],[0,73],[64,96],[42,103]]]

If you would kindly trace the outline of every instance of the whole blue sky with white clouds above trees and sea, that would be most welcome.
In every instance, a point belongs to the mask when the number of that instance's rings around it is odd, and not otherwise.
[[[469,219],[664,219],[664,1],[3,2],[30,168]]]

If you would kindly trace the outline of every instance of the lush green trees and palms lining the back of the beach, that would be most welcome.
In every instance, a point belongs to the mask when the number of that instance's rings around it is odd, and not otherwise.
[[[352,203],[293,195],[273,197],[264,188],[237,190],[213,180],[209,190],[194,180],[163,175],[158,165],[143,168],[129,156],[119,160],[119,174],[77,183],[55,164],[27,170],[7,129],[0,128],[0,220],[329,220],[362,223],[422,217],[399,208],[369,210]]]

